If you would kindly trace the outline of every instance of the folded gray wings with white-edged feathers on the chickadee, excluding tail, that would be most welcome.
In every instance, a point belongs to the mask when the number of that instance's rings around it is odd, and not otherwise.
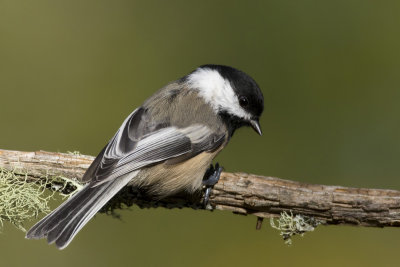
[[[223,144],[225,134],[194,124],[177,128],[151,120],[144,108],[132,112],[84,175],[92,186],[155,163],[191,158]]]

